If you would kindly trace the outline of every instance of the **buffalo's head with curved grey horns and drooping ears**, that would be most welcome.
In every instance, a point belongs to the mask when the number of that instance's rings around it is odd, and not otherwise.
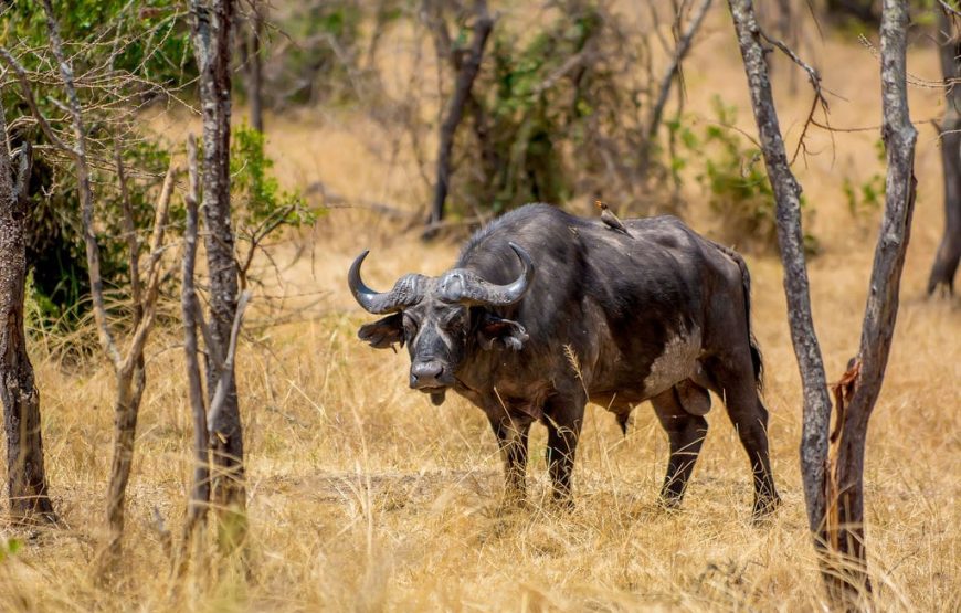
[[[361,326],[358,336],[378,349],[406,344],[411,388],[430,393],[434,404],[440,404],[447,388],[456,383],[465,356],[475,347],[520,350],[527,340],[524,326],[493,311],[520,300],[534,278],[530,255],[514,243],[509,245],[520,260],[521,272],[507,285],[454,268],[439,277],[404,275],[383,293],[374,292],[360,277],[360,266],[369,253],[365,251],[350,266],[350,292],[368,313],[390,315]]]

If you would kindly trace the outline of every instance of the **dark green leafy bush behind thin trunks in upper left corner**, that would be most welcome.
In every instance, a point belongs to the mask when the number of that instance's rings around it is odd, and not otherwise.
[[[176,91],[196,76],[186,13],[178,0],[55,1],[54,11],[77,77],[77,94],[87,124],[89,156],[94,161],[92,181],[103,221],[97,228],[102,273],[108,286],[117,286],[126,282],[127,253],[123,208],[112,168],[114,141],[125,135],[123,158],[128,169],[136,169],[136,177],[128,183],[130,201],[137,226],[144,228],[149,223],[152,194],[166,169],[168,154],[156,142],[133,133],[128,123],[131,108]],[[71,135],[72,128],[59,102],[64,99],[64,93],[50,54],[41,3],[35,0],[11,3],[4,8],[3,18],[0,44],[30,73],[34,98],[54,131]],[[8,114],[30,116],[19,86],[8,83],[0,97]],[[51,145],[35,123],[13,125],[14,147],[23,140]],[[38,151],[31,176],[34,201],[27,229],[28,262],[44,311],[51,319],[68,326],[87,308],[81,298],[89,289],[76,180],[71,160],[62,152]]]

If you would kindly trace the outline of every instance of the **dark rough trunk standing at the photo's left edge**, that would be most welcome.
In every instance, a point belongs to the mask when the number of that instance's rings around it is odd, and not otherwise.
[[[14,178],[7,141],[7,119],[0,105],[0,403],[7,433],[7,494],[15,521],[56,522],[43,471],[40,392],[23,328],[24,224],[32,150],[24,141]]]

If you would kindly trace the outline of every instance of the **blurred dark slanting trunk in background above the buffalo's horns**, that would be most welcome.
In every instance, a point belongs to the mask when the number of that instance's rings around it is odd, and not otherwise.
[[[487,1],[475,0],[474,7],[474,34],[471,40],[471,51],[467,59],[461,64],[457,82],[454,85],[454,94],[451,96],[451,102],[444,114],[444,121],[441,124],[441,142],[437,148],[437,180],[434,184],[434,197],[431,202],[431,215],[427,219],[425,236],[432,235],[432,226],[444,219],[444,202],[447,199],[451,181],[451,154],[454,149],[454,135],[464,116],[464,106],[471,95],[474,80],[477,78],[477,73],[480,71],[484,46],[494,29],[494,18],[487,12]]]

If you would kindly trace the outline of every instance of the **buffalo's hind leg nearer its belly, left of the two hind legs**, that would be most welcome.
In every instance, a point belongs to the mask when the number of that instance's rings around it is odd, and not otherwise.
[[[670,443],[670,458],[661,488],[661,500],[667,507],[677,507],[684,498],[687,480],[707,435],[707,420],[685,411],[674,388],[651,399],[651,404]]]

